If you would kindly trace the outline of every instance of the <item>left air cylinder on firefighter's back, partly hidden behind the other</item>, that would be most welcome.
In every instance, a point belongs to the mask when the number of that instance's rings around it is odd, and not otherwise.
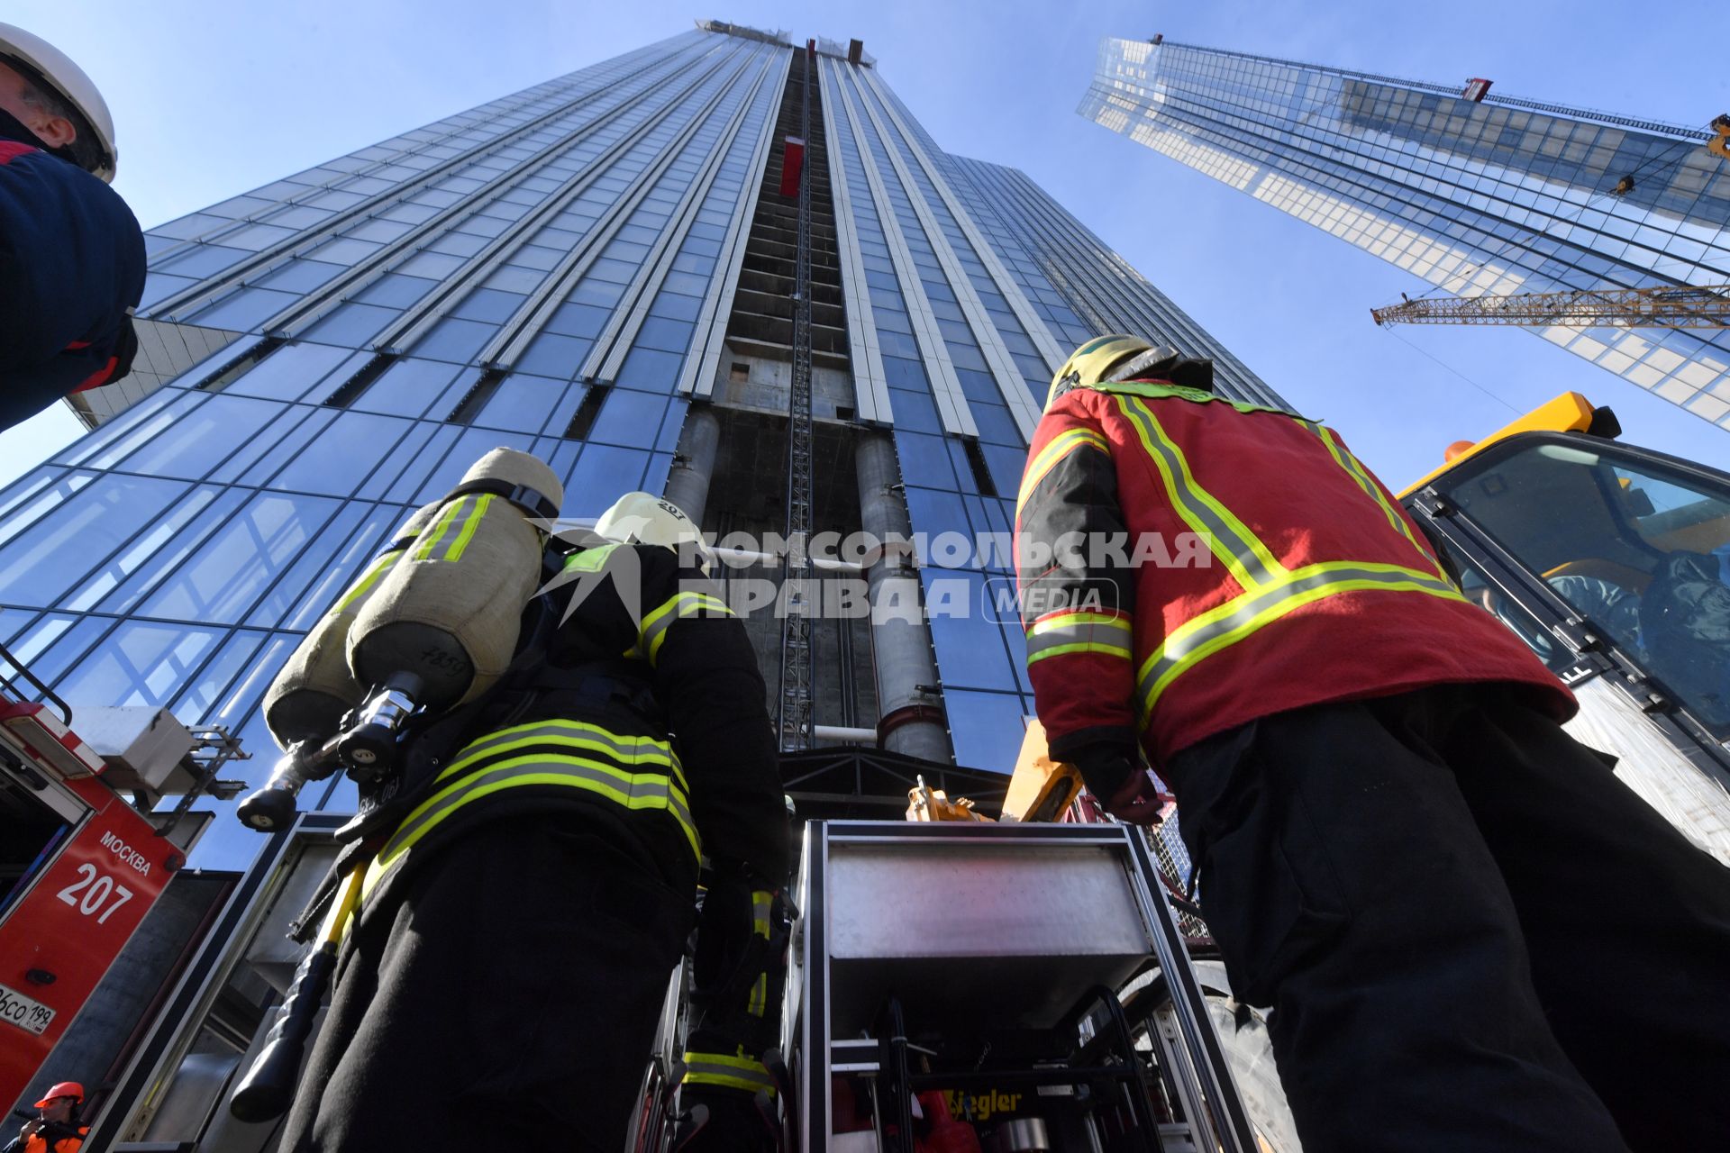
[[[396,531],[391,546],[318,619],[270,683],[265,691],[265,724],[279,748],[330,738],[343,726],[343,717],[365,700],[367,688],[348,669],[349,627],[384,574],[432,522],[441,505],[443,501],[434,501],[422,506]]]

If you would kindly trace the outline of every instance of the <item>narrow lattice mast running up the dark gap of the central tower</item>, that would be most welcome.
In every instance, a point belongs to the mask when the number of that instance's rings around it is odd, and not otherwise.
[[[799,140],[811,138],[811,48],[801,54]],[[811,747],[811,164],[799,171],[799,245],[792,283],[792,387],[787,394],[787,560],[780,631],[780,748]]]

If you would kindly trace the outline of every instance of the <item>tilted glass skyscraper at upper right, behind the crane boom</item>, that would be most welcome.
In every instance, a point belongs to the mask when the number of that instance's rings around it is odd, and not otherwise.
[[[1711,133],[1472,95],[1107,38],[1078,111],[1455,296],[1730,283]],[[1535,332],[1730,429],[1723,328]]]

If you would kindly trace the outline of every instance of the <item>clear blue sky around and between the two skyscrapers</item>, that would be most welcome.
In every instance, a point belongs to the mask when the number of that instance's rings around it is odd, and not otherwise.
[[[1510,328],[1381,330],[1410,273],[1074,114],[1100,36],[1201,43],[1678,124],[1730,109],[1721,9],[1576,0],[1363,5],[768,3],[659,0],[10,0],[71,54],[119,131],[116,188],[145,226],[690,28],[694,17],[858,36],[938,143],[1021,168],[1394,487],[1515,411],[1574,389],[1624,437],[1725,467],[1730,436]],[[0,436],[0,482],[76,436]]]

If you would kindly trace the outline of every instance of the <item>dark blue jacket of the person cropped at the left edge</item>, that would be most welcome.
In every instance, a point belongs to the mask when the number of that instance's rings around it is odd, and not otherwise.
[[[0,111],[0,429],[126,375],[144,271],[119,194]]]

